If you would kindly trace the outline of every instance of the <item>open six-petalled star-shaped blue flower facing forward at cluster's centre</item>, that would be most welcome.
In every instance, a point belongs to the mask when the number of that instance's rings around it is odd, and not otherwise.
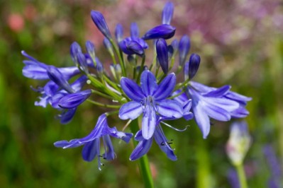
[[[174,90],[175,84],[176,76],[169,74],[158,86],[155,76],[148,70],[141,74],[140,86],[129,78],[121,78],[123,92],[133,101],[122,105],[120,119],[135,119],[143,113],[143,138],[150,139],[155,132],[156,114],[168,118],[182,117],[182,105],[166,99]]]

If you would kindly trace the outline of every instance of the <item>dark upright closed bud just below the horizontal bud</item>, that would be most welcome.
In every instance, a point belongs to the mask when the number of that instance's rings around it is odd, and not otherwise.
[[[168,72],[168,49],[167,43],[164,39],[158,39],[156,42],[157,59],[160,63],[162,71],[167,74]]]

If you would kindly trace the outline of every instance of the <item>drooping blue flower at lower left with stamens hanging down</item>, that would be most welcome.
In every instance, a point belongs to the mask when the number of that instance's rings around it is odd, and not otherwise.
[[[96,126],[91,133],[82,139],[73,139],[71,141],[57,141],[54,146],[58,148],[75,148],[84,145],[82,149],[82,158],[88,162],[94,160],[98,156],[98,166],[101,170],[101,160],[99,157],[103,157],[105,160],[113,160],[116,155],[113,150],[110,136],[116,139],[122,139],[126,143],[130,141],[133,134],[123,133],[117,131],[116,127],[110,128],[107,124],[106,114],[102,114],[97,120]],[[105,153],[100,154],[100,140],[103,140]]]

